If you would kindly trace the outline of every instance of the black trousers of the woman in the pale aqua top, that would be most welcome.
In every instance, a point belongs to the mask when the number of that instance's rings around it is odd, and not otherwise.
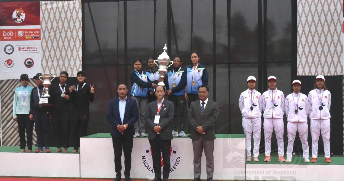
[[[17,114],[17,118],[20,148],[25,149],[26,131],[26,144],[28,144],[28,149],[32,150],[33,121],[30,121],[29,114]]]

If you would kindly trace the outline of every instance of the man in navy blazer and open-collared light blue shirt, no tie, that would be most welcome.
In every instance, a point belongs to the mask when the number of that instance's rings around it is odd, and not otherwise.
[[[112,125],[112,145],[115,153],[116,178],[114,181],[121,180],[122,170],[122,149],[124,152],[124,176],[126,181],[131,181],[131,151],[133,145],[134,123],[139,118],[136,101],[127,98],[128,87],[120,84],[117,88],[118,98],[109,102],[107,120]]]

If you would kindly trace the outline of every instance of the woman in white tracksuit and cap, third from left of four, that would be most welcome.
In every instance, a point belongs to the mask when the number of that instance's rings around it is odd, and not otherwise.
[[[288,135],[288,148],[287,148],[287,162],[292,161],[293,147],[296,137],[296,131],[299,132],[302,150],[303,161],[309,162],[308,153],[308,124],[307,116],[309,111],[309,102],[307,95],[300,92],[301,81],[294,80],[292,83],[293,93],[286,97],[286,116],[288,120],[287,135]]]

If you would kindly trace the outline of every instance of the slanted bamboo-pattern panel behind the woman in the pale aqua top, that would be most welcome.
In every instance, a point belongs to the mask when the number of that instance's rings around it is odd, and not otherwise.
[[[35,85],[35,82],[30,79],[29,86],[35,87]],[[0,80],[2,144],[4,146],[19,146],[18,124],[13,120],[12,114],[14,90],[20,86],[19,79]],[[36,140],[35,127],[33,127],[33,145],[36,144]]]

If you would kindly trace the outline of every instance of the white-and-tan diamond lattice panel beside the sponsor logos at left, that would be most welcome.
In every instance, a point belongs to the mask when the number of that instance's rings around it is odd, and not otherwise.
[[[41,1],[42,72],[81,70],[81,1]]]

